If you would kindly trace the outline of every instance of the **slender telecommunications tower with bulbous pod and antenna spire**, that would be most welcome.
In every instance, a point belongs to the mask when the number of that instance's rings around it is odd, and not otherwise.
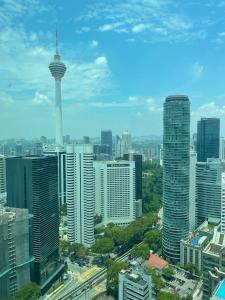
[[[50,63],[49,70],[52,76],[55,78],[55,122],[56,122],[56,134],[55,142],[56,146],[63,145],[63,132],[62,132],[62,100],[61,100],[61,78],[66,72],[66,66],[60,61],[60,55],[58,50],[58,36],[56,31],[56,51],[54,55],[54,61]]]

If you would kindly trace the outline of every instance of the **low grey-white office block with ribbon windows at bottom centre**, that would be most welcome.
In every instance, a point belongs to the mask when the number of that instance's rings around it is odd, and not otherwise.
[[[119,300],[151,300],[151,277],[141,271],[119,272]]]

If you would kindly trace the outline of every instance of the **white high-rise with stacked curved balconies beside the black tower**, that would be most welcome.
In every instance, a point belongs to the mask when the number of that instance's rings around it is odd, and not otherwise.
[[[68,239],[90,247],[94,243],[94,169],[92,145],[66,147]]]

